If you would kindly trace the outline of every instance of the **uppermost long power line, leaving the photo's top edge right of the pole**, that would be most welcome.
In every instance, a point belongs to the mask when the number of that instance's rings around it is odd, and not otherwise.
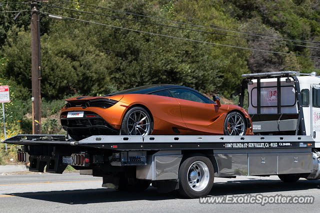
[[[181,22],[181,21],[175,21],[175,20],[170,20],[170,19],[165,19],[165,18],[159,18],[159,17],[153,17],[153,16],[148,16],[148,15],[141,15],[141,14],[132,13],[132,12],[125,12],[125,11],[116,10],[116,9],[110,9],[110,8],[101,7],[101,6],[94,6],[94,5],[84,4],[84,3],[80,3],[80,2],[76,2],[76,1],[70,1],[70,0],[61,0],[61,1],[70,2],[70,3],[76,3],[76,4],[80,4],[80,5],[84,5],[84,6],[89,6],[89,7],[94,7],[94,8],[99,8],[99,9],[105,9],[105,10],[108,10],[108,11],[115,11],[115,12],[120,12],[120,13],[126,13],[126,14],[130,14],[130,15],[135,15],[135,16],[141,16],[141,17],[153,18],[153,19],[157,19],[157,20],[163,20],[163,21],[170,21],[170,22],[174,22],[174,23],[186,24],[186,25],[191,25],[191,26],[204,27],[204,28],[209,28],[209,29],[215,29],[215,30],[233,32],[233,33],[246,34],[246,35],[251,35],[251,36],[260,36],[260,37],[266,37],[266,38],[273,38],[273,39],[280,39],[280,40],[286,40],[286,41],[293,41],[293,42],[301,42],[301,43],[309,43],[309,44],[317,44],[317,45],[320,45],[320,43],[309,42],[309,41],[302,41],[302,40],[296,40],[296,39],[287,39],[287,38],[279,38],[279,37],[273,37],[273,36],[267,36],[267,35],[259,35],[259,34],[249,33],[249,32],[241,32],[241,31],[234,31],[234,30],[228,30],[228,29],[220,29],[220,28],[203,26],[203,25],[192,24],[192,23],[185,23],[185,22]]]

